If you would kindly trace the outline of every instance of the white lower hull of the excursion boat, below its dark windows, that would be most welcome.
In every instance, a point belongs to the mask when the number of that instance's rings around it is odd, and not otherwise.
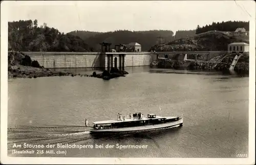
[[[118,133],[118,132],[134,132],[134,131],[151,131],[157,129],[167,129],[170,127],[182,125],[183,120],[179,120],[176,122],[171,123],[164,123],[164,124],[156,124],[156,125],[147,125],[147,126],[138,126],[138,127],[127,127],[127,128],[113,128],[113,129],[90,129],[92,134],[95,133]]]

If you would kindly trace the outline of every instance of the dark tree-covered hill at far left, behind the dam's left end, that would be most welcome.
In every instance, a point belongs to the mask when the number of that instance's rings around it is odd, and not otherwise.
[[[93,51],[79,36],[64,34],[49,28],[46,23],[37,25],[37,20],[8,22],[8,49],[14,51]]]

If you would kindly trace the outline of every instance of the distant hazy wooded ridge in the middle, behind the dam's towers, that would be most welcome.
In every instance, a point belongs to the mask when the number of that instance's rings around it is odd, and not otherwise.
[[[76,35],[84,39],[86,43],[92,46],[95,50],[100,50],[99,43],[110,42],[114,49],[115,44],[128,44],[130,42],[138,42],[141,44],[142,51],[148,51],[151,46],[169,42],[174,40],[173,31],[169,30],[151,30],[151,31],[128,31],[118,30],[113,32],[88,32],[78,31],[70,32],[68,34]]]

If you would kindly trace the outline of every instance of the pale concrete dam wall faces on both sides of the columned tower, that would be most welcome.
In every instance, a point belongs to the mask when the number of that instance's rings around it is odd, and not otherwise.
[[[32,60],[45,68],[104,68],[107,63],[106,53],[100,52],[23,52],[31,57]],[[120,52],[110,53],[117,57],[119,64],[119,55],[124,55],[124,67],[126,66],[147,66],[154,60],[156,55],[149,52]],[[113,61],[114,62],[114,61]],[[114,66],[114,64],[112,65]]]

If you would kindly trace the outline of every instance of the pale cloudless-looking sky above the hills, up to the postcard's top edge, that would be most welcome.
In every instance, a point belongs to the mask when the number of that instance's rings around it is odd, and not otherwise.
[[[8,4],[8,20],[37,19],[61,32],[74,30],[192,30],[212,21],[253,16],[253,1],[52,1]],[[2,4],[3,5],[3,4]]]

